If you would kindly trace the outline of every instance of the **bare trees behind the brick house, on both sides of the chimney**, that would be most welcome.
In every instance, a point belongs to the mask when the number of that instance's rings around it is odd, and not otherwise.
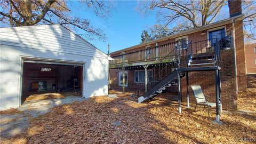
[[[169,34],[174,34],[189,28],[201,27],[214,21],[227,18],[227,15],[221,13],[225,5],[227,5],[227,1],[225,0],[152,0],[141,2],[138,10],[143,14],[154,10],[158,12],[158,24],[150,28],[151,33],[160,30],[169,31]],[[255,39],[255,1],[243,0],[242,6],[243,13],[245,14],[245,37]],[[155,27],[158,29],[155,29]]]

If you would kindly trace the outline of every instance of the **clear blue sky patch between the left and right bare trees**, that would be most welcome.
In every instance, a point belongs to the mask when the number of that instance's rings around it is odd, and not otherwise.
[[[148,27],[156,23],[156,13],[142,17],[136,10],[137,3],[137,1],[115,2],[116,9],[111,11],[107,20],[96,17],[92,11],[81,13],[77,10],[72,10],[72,12],[81,18],[89,19],[92,26],[103,30],[107,36],[107,41],[100,42],[96,39],[90,41],[90,43],[107,53],[108,43],[110,44],[110,52],[140,44],[142,30],[148,29]],[[82,31],[78,32],[83,33]]]

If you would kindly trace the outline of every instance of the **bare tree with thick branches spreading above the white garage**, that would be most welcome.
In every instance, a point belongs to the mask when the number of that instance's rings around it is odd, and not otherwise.
[[[31,26],[59,23],[69,29],[82,29],[86,38],[98,37],[105,41],[106,36],[99,28],[94,28],[89,19],[75,17],[68,7],[70,1],[57,0],[1,0],[0,21],[10,26]],[[71,2],[70,2],[71,3]],[[113,5],[106,1],[79,1],[82,10],[94,10],[99,17],[106,18]],[[81,10],[81,11],[82,11]]]

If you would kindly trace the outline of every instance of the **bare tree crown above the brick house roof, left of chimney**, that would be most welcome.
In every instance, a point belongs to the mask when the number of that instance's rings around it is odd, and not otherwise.
[[[140,9],[141,11],[158,10],[161,15],[160,19],[165,21],[165,25],[169,25],[178,19],[186,19],[192,25],[191,27],[199,27],[213,22],[219,14],[222,6],[227,2],[221,1],[151,1],[144,3]]]

